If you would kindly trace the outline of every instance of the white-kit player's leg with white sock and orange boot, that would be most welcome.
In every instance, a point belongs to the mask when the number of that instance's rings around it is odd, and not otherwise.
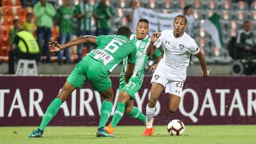
[[[155,114],[155,110],[156,110],[156,102],[159,99],[162,91],[164,89],[164,86],[162,84],[158,84],[156,82],[154,82],[152,84],[150,93],[150,99],[146,108],[146,116],[147,116],[147,121],[146,121],[146,130],[145,132],[142,134],[144,136],[149,136],[154,134],[154,129],[153,129],[153,117]]]

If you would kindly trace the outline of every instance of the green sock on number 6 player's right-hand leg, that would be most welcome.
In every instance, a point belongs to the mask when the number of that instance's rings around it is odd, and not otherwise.
[[[110,114],[112,112],[113,103],[109,101],[103,101],[102,106],[100,109],[100,122],[99,122],[99,128],[105,127],[106,123],[108,122],[108,118],[110,117]]]

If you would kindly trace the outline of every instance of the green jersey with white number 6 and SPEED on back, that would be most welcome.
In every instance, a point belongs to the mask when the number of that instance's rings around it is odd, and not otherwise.
[[[123,35],[97,36],[96,49],[88,55],[102,62],[111,72],[125,57],[129,63],[135,63],[136,46],[129,38]]]

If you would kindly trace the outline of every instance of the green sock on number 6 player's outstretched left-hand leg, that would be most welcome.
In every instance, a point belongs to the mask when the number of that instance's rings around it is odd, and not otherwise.
[[[43,116],[43,120],[39,126],[40,130],[44,130],[44,128],[47,126],[47,124],[49,124],[49,122],[51,121],[51,119],[58,113],[59,109],[60,109],[60,105],[62,104],[62,101],[60,98],[55,98],[52,103],[50,104],[50,106],[47,108],[44,116]]]

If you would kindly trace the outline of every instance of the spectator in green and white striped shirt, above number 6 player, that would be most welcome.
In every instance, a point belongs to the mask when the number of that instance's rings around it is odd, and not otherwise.
[[[75,6],[75,17],[78,20],[77,36],[92,35],[91,32],[91,18],[93,6],[89,0],[82,0]],[[87,52],[90,51],[90,45],[86,44]],[[81,61],[83,53],[83,44],[77,46],[77,61]]]

